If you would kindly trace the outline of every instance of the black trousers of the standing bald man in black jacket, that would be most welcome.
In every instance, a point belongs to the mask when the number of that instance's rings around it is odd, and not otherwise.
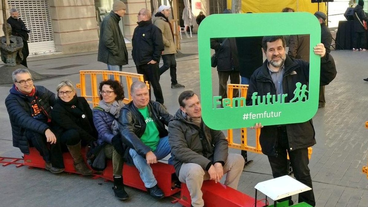
[[[149,98],[151,99],[151,88],[153,88],[153,94],[155,94],[156,101],[163,104],[163,95],[160,85],[160,72],[159,63],[144,64],[137,67],[137,73],[143,74],[144,81],[148,81]]]

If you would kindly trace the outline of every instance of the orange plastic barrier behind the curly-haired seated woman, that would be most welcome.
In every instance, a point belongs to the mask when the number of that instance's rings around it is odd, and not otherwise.
[[[114,76],[114,80],[122,81],[124,85],[125,97],[124,103],[129,103],[131,99],[130,86],[136,80],[144,82],[143,75],[137,73],[127,73],[120,71],[109,70],[81,70],[79,71],[80,83],[76,84],[77,88],[81,90],[81,97],[85,97],[88,103],[92,103],[93,107],[97,106],[100,101],[100,95],[98,91],[99,83],[110,78],[110,75]],[[125,83],[124,83],[125,78]],[[91,84],[87,84],[88,80]],[[147,83],[146,83],[147,84]],[[149,87],[149,85],[147,84]],[[87,90],[91,90],[91,93],[87,93]]]

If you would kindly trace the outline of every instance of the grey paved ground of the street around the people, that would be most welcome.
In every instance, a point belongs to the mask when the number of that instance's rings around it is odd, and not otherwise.
[[[185,88],[171,89],[168,71],[160,80],[165,105],[170,113],[178,109],[177,97],[180,92],[194,90],[199,93],[197,39],[184,39],[181,53],[177,58],[177,76]],[[368,159],[368,130],[364,128],[364,122],[368,120],[368,82],[362,80],[368,77],[368,52],[339,50],[331,54],[338,74],[326,86],[325,108],[318,109],[313,118],[317,144],[313,147],[309,168],[316,206],[367,207],[368,179],[361,169],[367,165]],[[56,76],[35,83],[55,91],[57,83],[66,78],[79,83],[79,70],[105,70],[106,65],[96,59],[95,52],[33,57],[29,59],[29,68],[40,74]],[[136,72],[132,59],[124,71]],[[215,69],[212,71],[212,79],[213,92],[217,94]],[[20,150],[12,146],[10,122],[4,105],[9,89],[10,85],[0,85],[0,156],[21,157]],[[240,142],[240,130],[234,130],[234,136]],[[254,131],[248,130],[249,143],[254,143],[254,136]],[[240,154],[238,150],[229,151]],[[250,152],[248,159],[253,162],[244,168],[238,190],[254,196],[254,186],[272,176],[265,155]],[[0,206],[181,206],[170,203],[170,197],[156,201],[145,192],[131,187],[127,187],[131,199],[121,202],[113,196],[112,182],[68,173],[53,175],[26,166],[0,166],[0,187]],[[297,197],[293,196],[293,200],[296,201]]]

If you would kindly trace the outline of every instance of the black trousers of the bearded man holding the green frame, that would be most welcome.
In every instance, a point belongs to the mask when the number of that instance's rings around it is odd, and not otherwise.
[[[308,187],[312,187],[312,178],[309,172],[308,148],[290,151],[287,139],[286,127],[277,128],[277,156],[268,156],[271,165],[273,178],[278,178],[288,173],[287,153],[289,153],[290,165],[293,168],[294,177]],[[291,199],[291,197],[290,197]],[[316,205],[313,190],[299,193],[298,202],[305,202],[311,206]]]

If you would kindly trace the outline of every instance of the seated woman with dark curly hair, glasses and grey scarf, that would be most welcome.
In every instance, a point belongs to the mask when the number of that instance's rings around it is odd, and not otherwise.
[[[119,200],[129,198],[123,185],[123,143],[119,133],[118,118],[124,106],[124,88],[118,81],[106,80],[99,85],[100,102],[93,108],[93,122],[98,131],[98,144],[104,145],[106,158],[112,159],[114,194]]]

